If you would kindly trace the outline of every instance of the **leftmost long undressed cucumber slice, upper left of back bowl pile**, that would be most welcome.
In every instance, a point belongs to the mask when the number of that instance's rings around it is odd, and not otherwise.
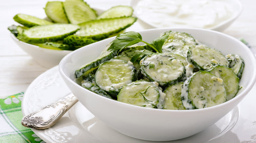
[[[47,24],[53,24],[50,21],[44,20],[44,19],[40,19],[31,15],[27,15],[27,14],[16,14],[13,17],[13,20],[16,21],[19,24],[22,24],[24,26],[27,27],[32,27],[32,26],[36,26],[36,25],[47,25]]]

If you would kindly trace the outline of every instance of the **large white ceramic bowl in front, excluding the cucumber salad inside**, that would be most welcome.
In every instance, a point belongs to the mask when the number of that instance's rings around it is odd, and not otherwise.
[[[240,80],[243,89],[237,96],[225,103],[204,109],[164,110],[121,103],[76,84],[73,81],[74,71],[98,57],[105,46],[115,39],[114,37],[90,44],[65,56],[59,64],[60,74],[70,90],[92,114],[124,135],[143,140],[167,141],[199,133],[226,115],[253,87],[256,77],[255,56],[241,41],[212,30],[165,28],[149,29],[139,33],[144,41],[150,42],[169,30],[189,33],[223,54],[240,55],[245,61],[245,69]]]

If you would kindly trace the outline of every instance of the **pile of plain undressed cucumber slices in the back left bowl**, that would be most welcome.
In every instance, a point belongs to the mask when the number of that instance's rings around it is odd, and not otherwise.
[[[19,13],[13,20],[20,25],[8,29],[23,42],[72,51],[116,36],[137,20],[129,6],[115,6],[98,15],[83,0],[49,1],[44,10],[48,19]]]

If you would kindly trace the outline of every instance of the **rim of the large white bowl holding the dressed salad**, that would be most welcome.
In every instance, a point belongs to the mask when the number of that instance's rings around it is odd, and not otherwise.
[[[146,29],[146,30],[141,30],[141,31],[138,31],[138,33],[140,32],[150,32],[150,31],[155,31],[155,30],[166,30],[166,31],[169,31],[169,30],[179,30],[179,29],[182,29],[182,30],[199,30],[199,31],[204,31],[204,32],[213,32],[213,33],[216,33],[216,34],[219,34],[219,35],[222,35],[222,36],[225,36],[231,40],[235,40],[236,42],[240,43],[242,47],[246,48],[247,50],[247,53],[248,55],[253,58],[253,60],[255,61],[255,64],[254,66],[252,67],[254,71],[256,71],[256,57],[254,56],[254,54],[252,53],[252,51],[250,51],[250,49],[243,43],[241,42],[240,40],[232,37],[232,36],[229,36],[227,34],[224,34],[222,32],[218,32],[218,31],[214,31],[214,30],[209,30],[209,29],[202,29],[202,28],[153,28],[153,29]],[[116,38],[115,37],[111,37],[111,38],[108,38],[108,39],[105,39],[105,40],[114,40]],[[104,42],[105,40],[101,40],[99,42]],[[98,42],[97,42],[98,43]],[[90,46],[93,46],[94,44],[97,44],[97,43],[92,43],[90,44]],[[89,46],[89,45],[88,45]],[[109,99],[109,98],[106,98],[106,97],[103,97],[101,95],[98,95],[80,85],[78,85],[75,81],[73,81],[69,76],[67,76],[65,74],[65,72],[62,70],[62,68],[64,68],[65,66],[65,61],[68,60],[68,58],[72,57],[76,52],[80,52],[81,50],[83,50],[84,48],[86,48],[87,46],[84,46],[84,47],[81,47],[69,54],[67,54],[66,56],[64,56],[62,58],[62,60],[59,62],[59,72],[62,76],[62,78],[66,78],[70,83],[72,84],[75,84],[75,86],[77,86],[78,88],[82,89],[83,91],[86,91],[86,92],[90,92],[94,95],[97,95],[97,97],[99,98],[104,98],[106,100],[109,100],[110,102],[115,102],[115,103],[118,103],[118,104],[121,104],[123,106],[130,106],[130,108],[140,108],[142,110],[148,110],[150,112],[174,112],[174,113],[190,113],[190,112],[201,112],[202,110],[203,111],[207,111],[207,110],[214,110],[215,108],[221,108],[223,106],[225,106],[226,104],[229,104],[233,101],[236,101],[236,100],[242,100],[245,95],[252,89],[252,87],[254,86],[255,82],[256,82],[256,72],[253,72],[253,75],[252,75],[252,78],[251,80],[249,81],[249,84],[248,86],[246,86],[239,94],[237,94],[234,98],[232,98],[231,100],[229,101],[226,101],[224,103],[221,103],[221,104],[218,104],[218,105],[215,105],[215,106],[211,106],[211,107],[207,107],[207,108],[202,108],[202,109],[193,109],[193,110],[166,110],[166,109],[155,109],[155,108],[145,108],[145,107],[140,107],[140,106],[136,106],[136,105],[132,105],[132,104],[128,104],[128,103],[122,103],[122,102],[118,102],[117,100],[113,100],[113,99]],[[67,84],[67,83],[66,83]]]

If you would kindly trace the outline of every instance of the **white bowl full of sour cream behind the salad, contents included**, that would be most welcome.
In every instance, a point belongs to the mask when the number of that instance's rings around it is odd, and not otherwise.
[[[239,0],[132,0],[134,14],[155,28],[182,27],[223,31],[242,12]]]

